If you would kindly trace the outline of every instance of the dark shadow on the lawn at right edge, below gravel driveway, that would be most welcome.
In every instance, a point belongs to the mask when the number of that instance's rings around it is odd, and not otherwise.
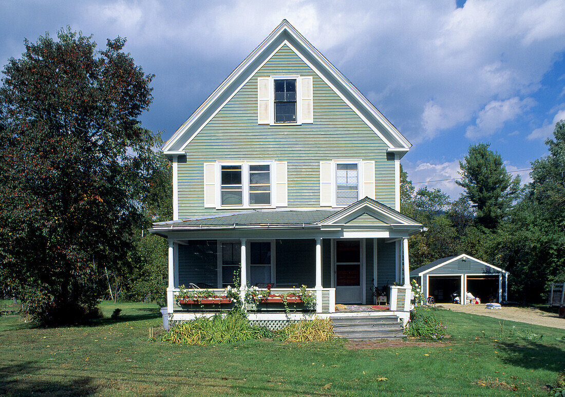
[[[538,342],[515,343],[502,342],[506,357],[502,360],[506,364],[516,367],[538,370],[540,368],[562,371],[565,368],[565,343],[542,344]]]

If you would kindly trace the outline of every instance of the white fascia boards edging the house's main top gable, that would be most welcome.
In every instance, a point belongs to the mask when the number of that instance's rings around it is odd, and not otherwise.
[[[340,82],[340,84],[346,90],[348,90],[351,93],[351,95],[353,95],[353,97],[359,102],[359,104],[361,104],[369,112],[369,114],[375,117],[375,120],[378,121],[379,124],[381,124],[385,128],[386,132],[388,132],[392,137],[394,137],[398,141],[400,147],[396,147],[395,145],[390,143],[390,141],[386,139],[383,136],[383,134],[381,134],[381,132],[376,128],[376,126],[373,125],[373,123],[371,123],[370,120],[367,120],[366,117],[363,116],[362,112],[360,112],[357,107],[355,107],[353,104],[351,104],[350,101],[348,101],[345,98],[345,95],[342,93],[342,90],[337,89],[328,80],[328,78],[324,76],[323,73],[319,72],[318,68],[312,65],[311,62],[309,61],[307,62],[307,59],[303,56],[301,51],[298,51],[295,48],[295,46],[291,45],[291,43],[288,42],[288,40],[283,40],[282,43],[280,43],[280,45],[277,46],[277,49],[275,51],[272,51],[270,55],[268,55],[265,59],[263,59],[263,62],[261,62],[260,66],[255,68],[254,72],[251,73],[247,72],[248,76],[244,79],[245,82],[249,81],[249,78],[255,75],[255,72],[257,72],[257,70],[261,66],[263,66],[263,64],[266,63],[267,60],[270,59],[271,56],[274,53],[276,53],[276,51],[278,51],[278,49],[280,49],[282,45],[286,44],[289,47],[291,47],[295,51],[295,53],[301,59],[303,59],[308,64],[308,66],[312,68],[312,70],[314,70],[318,74],[320,78],[322,78],[329,86],[331,86],[331,88],[334,91],[336,91],[336,93],[340,95],[340,97],[342,97],[342,99],[367,123],[367,125],[370,126],[370,128],[373,129],[373,131],[377,133],[377,135],[379,135],[381,139],[383,139],[383,141],[389,146],[390,149],[406,149],[406,150],[410,149],[410,147],[412,146],[411,143],[408,142],[408,140],[405,137],[403,137],[400,132],[398,132],[398,130],[394,127],[394,125],[392,125],[392,123],[390,123],[390,121],[388,121],[371,104],[371,102],[369,102],[368,99],[365,98],[363,94],[361,94],[359,90],[355,88],[355,86],[351,84],[351,82],[347,80],[347,78],[344,75],[342,75],[342,73],[338,71],[336,67],[332,65],[332,63],[330,63],[318,50],[316,50],[315,47],[312,46],[310,42],[308,42],[306,38],[302,36],[302,34],[300,34],[296,29],[294,29],[294,27],[290,25],[288,21],[282,20],[279,26],[277,26],[275,30],[273,30],[271,34],[265,40],[263,40],[263,42],[260,43],[260,45],[251,54],[249,54],[249,56],[247,56],[244,62],[240,63],[240,65],[236,69],[234,69],[234,71],[218,86],[218,88],[216,88],[216,90],[214,90],[214,92],[206,99],[206,101],[204,101],[201,104],[201,106],[199,106],[197,110],[194,111],[194,113],[188,118],[188,120],[186,120],[180,126],[180,128],[176,130],[175,134],[173,134],[173,136],[163,146],[163,151],[172,151],[171,148],[173,147],[173,145],[175,145],[184,136],[184,134],[189,130],[191,126],[193,126],[193,124],[199,122],[199,118],[203,114],[205,114],[208,107],[212,106],[214,102],[218,100],[218,98],[222,94],[224,94],[226,90],[230,88],[233,82],[237,80],[237,78],[240,77],[242,73],[244,73],[246,69],[253,62],[255,62],[260,55],[264,54],[264,51],[268,50],[268,47],[272,45],[273,42],[285,32],[288,33],[289,36],[292,37],[297,43],[299,43],[308,53],[310,53],[318,61],[318,63],[320,63],[321,66],[327,69],[327,71],[336,79],[336,81]],[[226,99],[223,102],[223,104],[221,104],[221,106],[218,106],[218,108],[216,108],[216,110],[213,112],[214,115],[225,105],[225,103],[229,101],[229,99],[231,99],[231,97],[233,97],[234,94],[237,93],[239,89],[241,89],[241,87],[245,84],[245,82],[242,82],[239,85],[239,87],[231,93],[231,95],[228,95],[229,98]],[[211,117],[213,117],[213,115]],[[182,149],[184,149],[184,147],[188,145],[190,141],[192,141],[192,139],[196,136],[196,134],[198,134],[198,132],[203,128],[203,126],[205,126],[208,123],[208,121],[210,121],[211,117],[207,117],[207,120],[204,122],[200,121],[201,125],[199,125],[198,129],[192,134],[192,136],[189,137],[186,143],[182,145],[181,147]]]

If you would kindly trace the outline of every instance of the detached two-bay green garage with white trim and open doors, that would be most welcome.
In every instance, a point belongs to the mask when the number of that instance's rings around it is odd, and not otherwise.
[[[464,297],[470,292],[481,303],[507,300],[508,272],[469,255],[434,260],[410,272],[421,286],[424,297],[437,303],[453,302],[452,294]],[[463,304],[467,299],[461,299]]]

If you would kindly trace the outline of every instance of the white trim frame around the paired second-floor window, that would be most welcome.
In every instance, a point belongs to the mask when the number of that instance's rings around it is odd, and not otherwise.
[[[241,206],[223,206],[221,205],[221,166],[222,165],[241,165],[241,184],[242,184],[242,204]],[[269,165],[270,182],[271,182],[271,203],[270,204],[249,204],[249,165]],[[241,209],[245,208],[276,208],[275,194],[276,194],[276,167],[274,160],[268,161],[241,161],[241,162],[216,162],[216,210],[225,209]]]

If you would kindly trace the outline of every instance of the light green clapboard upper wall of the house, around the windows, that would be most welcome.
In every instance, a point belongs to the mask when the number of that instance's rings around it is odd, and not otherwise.
[[[314,124],[257,124],[257,78],[314,76]],[[283,46],[186,146],[179,159],[180,218],[204,208],[203,163],[216,160],[288,162],[288,206],[320,206],[320,160],[375,160],[376,199],[394,207],[394,160],[387,146],[289,47]],[[233,212],[233,210],[221,210]]]

